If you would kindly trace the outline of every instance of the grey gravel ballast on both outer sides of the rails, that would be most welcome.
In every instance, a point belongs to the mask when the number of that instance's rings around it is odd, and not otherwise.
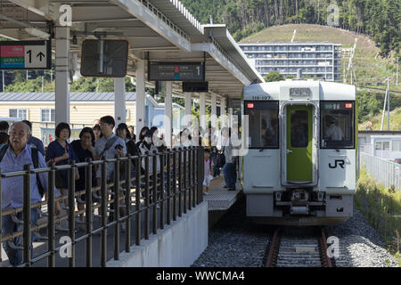
[[[273,227],[252,224],[245,215],[245,201],[240,199],[209,230],[208,248],[193,263],[193,267],[260,267]],[[354,216],[346,223],[326,226],[327,237],[340,241],[338,267],[397,267],[385,249],[379,234],[354,208]]]

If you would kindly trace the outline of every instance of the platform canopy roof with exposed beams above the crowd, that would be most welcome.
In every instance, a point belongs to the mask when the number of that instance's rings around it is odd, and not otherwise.
[[[225,98],[240,98],[244,85],[264,81],[225,25],[201,25],[178,0],[4,0],[0,35],[47,39],[49,21],[60,25],[62,4],[72,8],[71,39],[77,41],[71,41],[70,51],[78,53],[78,59],[83,40],[103,32],[106,38],[129,41],[128,75],[132,77],[135,61],[142,59],[206,61],[209,91]],[[173,89],[182,94],[180,82]]]

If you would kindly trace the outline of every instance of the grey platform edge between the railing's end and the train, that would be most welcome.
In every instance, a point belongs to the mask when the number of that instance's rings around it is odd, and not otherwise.
[[[203,195],[203,200],[208,202],[209,211],[227,210],[241,196],[241,183],[235,184],[235,191],[228,191],[224,186],[225,178],[223,175],[210,182],[208,195]]]

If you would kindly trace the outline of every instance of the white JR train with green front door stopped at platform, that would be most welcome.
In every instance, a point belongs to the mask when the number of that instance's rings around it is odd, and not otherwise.
[[[356,87],[291,79],[247,85],[241,160],[247,216],[261,224],[341,224],[356,193]]]

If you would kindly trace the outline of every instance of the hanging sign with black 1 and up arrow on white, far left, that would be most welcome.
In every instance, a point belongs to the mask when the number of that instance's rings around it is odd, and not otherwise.
[[[50,41],[0,42],[0,69],[51,69]]]

